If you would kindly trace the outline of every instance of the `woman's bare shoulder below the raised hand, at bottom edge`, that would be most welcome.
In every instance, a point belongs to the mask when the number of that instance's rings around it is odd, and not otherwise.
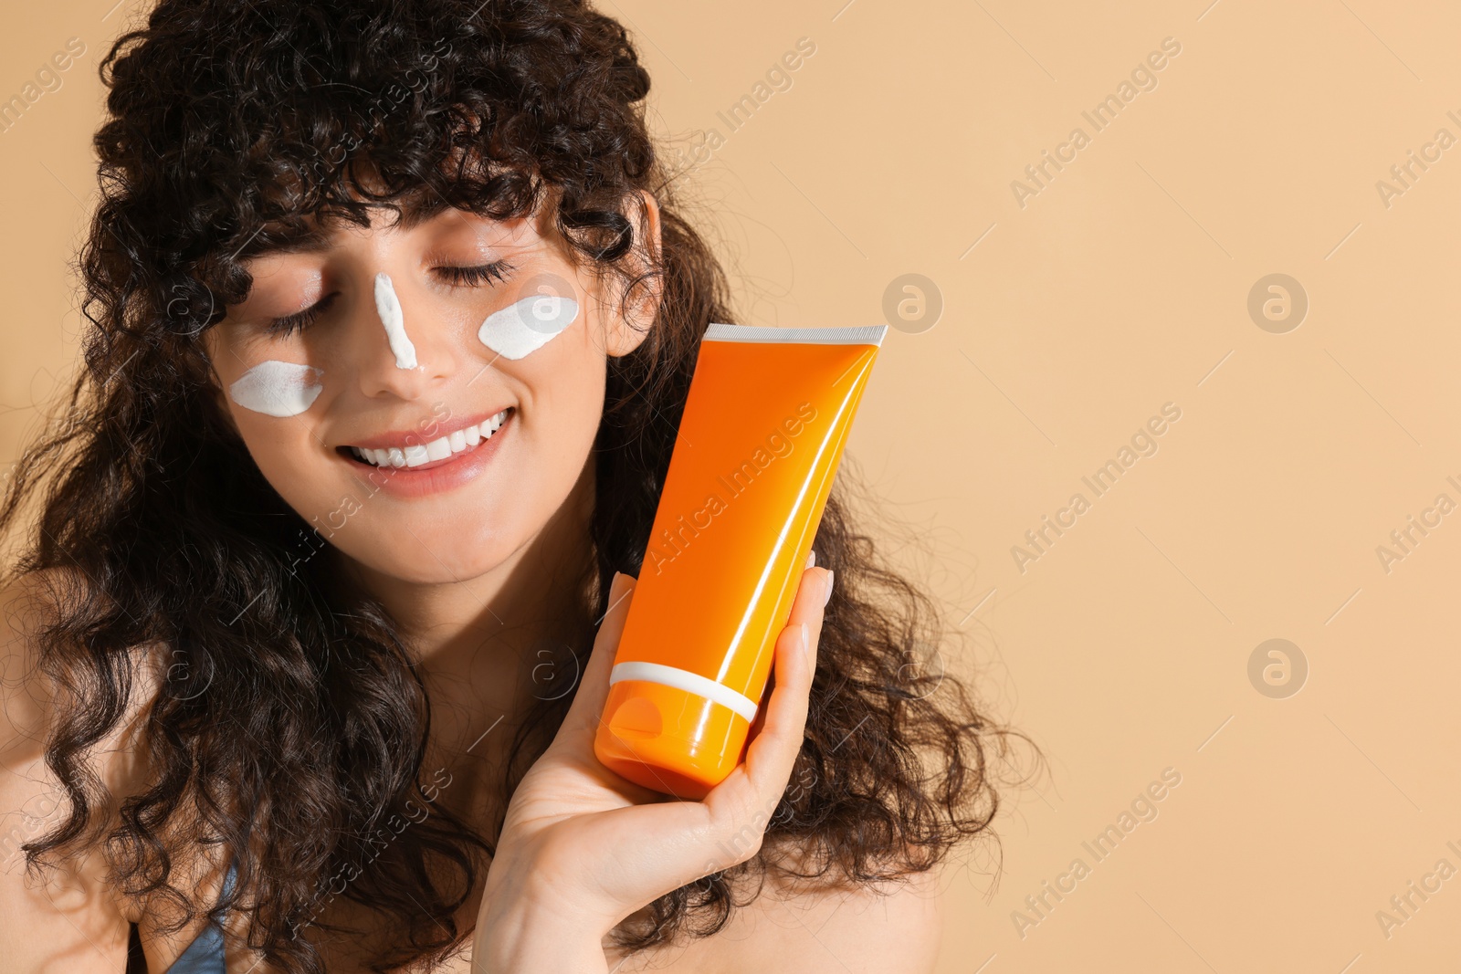
[[[938,870],[836,891],[802,891],[767,879],[761,894],[735,910],[719,933],[630,956],[618,973],[929,974],[941,939]]]

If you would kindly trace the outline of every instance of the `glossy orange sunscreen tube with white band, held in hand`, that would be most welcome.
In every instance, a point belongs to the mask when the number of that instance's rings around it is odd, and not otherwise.
[[[741,762],[887,330],[707,329],[593,742],[621,777],[703,799]]]

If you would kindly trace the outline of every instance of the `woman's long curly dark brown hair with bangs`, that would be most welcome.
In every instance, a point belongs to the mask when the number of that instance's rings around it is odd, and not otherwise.
[[[644,558],[700,337],[733,320],[725,273],[647,131],[649,74],[624,28],[579,0],[161,0],[101,74],[85,368],[0,507],[9,533],[38,504],[18,575],[77,583],[37,637],[38,667],[61,691],[45,761],[67,800],[25,845],[28,866],[99,845],[118,889],[177,911],[168,929],[241,907],[247,945],[291,973],[323,970],[297,932],[317,921],[321,888],[349,876],[340,895],[396,932],[374,970],[443,958],[469,933],[453,911],[485,876],[501,816],[438,809],[373,844],[432,794],[418,660],[326,559],[298,564],[311,529],[226,422],[202,334],[247,296],[241,261],[310,219],[368,226],[373,204],[507,219],[548,200],[576,260],[662,298],[643,343],[608,362],[596,575],[583,586],[584,618],[600,618],[612,572],[637,575]],[[625,202],[641,190],[660,204],[662,245],[634,270]],[[844,472],[814,543],[837,587],[805,740],[766,843],[621,924],[627,949],[714,933],[744,905],[742,876],[897,881],[989,831],[992,765],[1018,735],[926,667],[947,626],[880,562],[850,507]],[[592,640],[586,626],[579,662]],[[172,666],[139,704],[149,645]],[[504,796],[568,702],[535,704]],[[88,755],[133,708],[150,777],[111,794]],[[218,904],[181,875],[180,853],[199,847],[237,866]]]

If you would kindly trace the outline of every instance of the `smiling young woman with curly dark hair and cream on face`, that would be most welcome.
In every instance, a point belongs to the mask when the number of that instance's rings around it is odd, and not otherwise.
[[[161,0],[102,77],[85,369],[0,508],[7,967],[931,970],[1007,732],[843,488],[730,778],[593,756],[730,320],[624,29]]]

